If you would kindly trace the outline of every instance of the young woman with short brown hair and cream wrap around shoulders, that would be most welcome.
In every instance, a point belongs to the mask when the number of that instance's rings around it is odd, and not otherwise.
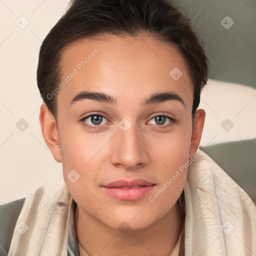
[[[8,255],[256,253],[253,202],[198,150],[206,81],[203,49],[167,1],[72,0],[37,69],[63,182],[25,198]]]

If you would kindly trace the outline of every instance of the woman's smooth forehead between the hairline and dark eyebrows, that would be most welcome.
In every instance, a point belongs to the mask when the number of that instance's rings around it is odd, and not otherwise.
[[[57,101],[91,90],[140,102],[141,94],[172,90],[192,105],[193,86],[179,48],[150,36],[79,39],[63,49],[60,64],[60,82],[66,83]]]

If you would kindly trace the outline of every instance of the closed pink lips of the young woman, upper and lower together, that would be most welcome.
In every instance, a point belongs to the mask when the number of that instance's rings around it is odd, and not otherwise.
[[[154,185],[154,183],[141,178],[133,180],[118,179],[103,185],[102,190],[108,195],[120,200],[138,200],[151,191]],[[128,188],[133,186],[138,187]]]

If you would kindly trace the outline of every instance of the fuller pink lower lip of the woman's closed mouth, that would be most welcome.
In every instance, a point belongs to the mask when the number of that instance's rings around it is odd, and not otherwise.
[[[138,188],[105,187],[102,189],[110,196],[121,200],[138,200],[153,189],[154,185],[141,186]]]

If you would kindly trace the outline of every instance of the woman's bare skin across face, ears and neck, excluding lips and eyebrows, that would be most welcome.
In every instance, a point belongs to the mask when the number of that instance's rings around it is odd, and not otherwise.
[[[174,44],[146,35],[107,38],[83,38],[63,50],[62,78],[95,48],[99,52],[55,96],[57,125],[47,106],[41,105],[42,134],[55,160],[62,162],[66,186],[77,203],[74,221],[80,255],[167,256],[180,233],[177,199],[187,170],[154,202],[148,197],[195,154],[205,112],[197,110],[192,122],[191,77]],[[183,73],[178,80],[169,75],[174,67]],[[117,103],[82,99],[70,105],[82,90],[110,94]],[[169,100],[141,107],[146,97],[164,91],[178,94],[184,105]],[[94,111],[106,118],[97,124],[101,127],[90,129],[80,119]],[[166,118],[158,124],[154,117],[162,115],[176,122]],[[123,118],[131,124],[126,131],[118,126]],[[90,118],[86,123],[95,126]],[[74,183],[67,178],[72,169],[80,175]],[[156,185],[141,199],[120,200],[101,188],[119,178],[143,178]],[[130,227],[126,233],[118,228],[123,221]]]

